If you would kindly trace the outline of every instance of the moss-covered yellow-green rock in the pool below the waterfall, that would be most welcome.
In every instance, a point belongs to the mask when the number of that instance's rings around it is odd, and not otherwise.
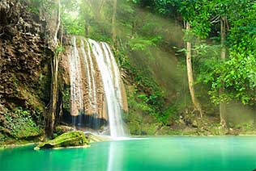
[[[41,148],[67,148],[67,147],[88,147],[89,143],[84,136],[83,131],[70,131],[56,137],[53,140],[46,141],[45,143],[38,144],[36,150]]]

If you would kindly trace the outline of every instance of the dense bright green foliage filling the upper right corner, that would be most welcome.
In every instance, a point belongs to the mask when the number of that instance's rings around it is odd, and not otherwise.
[[[208,64],[211,70],[210,74],[208,74],[205,79],[205,81],[211,82],[211,98],[213,98],[213,100],[215,100],[217,96],[216,93],[220,87],[224,86],[227,90],[226,98],[228,98],[225,100],[237,98],[243,103],[254,103],[255,70],[252,65],[255,60],[254,49],[256,39],[256,23],[254,21],[256,4],[254,1],[151,0],[147,2],[134,2],[142,6],[150,7],[155,10],[156,13],[160,13],[164,16],[173,14],[173,11],[174,13],[179,12],[185,21],[190,22],[194,35],[201,38],[210,38],[211,40],[220,40],[219,21],[221,17],[227,17],[228,35],[225,46],[228,48],[228,60],[222,63],[215,62],[218,60],[218,56],[214,56],[211,50],[215,48],[217,42],[215,44],[199,43],[201,47],[196,44],[194,47],[194,58],[200,55],[202,56],[202,53],[196,52],[199,50],[208,53],[208,56],[205,57],[215,60],[212,61],[215,66],[212,67],[212,63]],[[200,68],[201,66],[197,64],[195,67]],[[200,69],[200,72],[205,71]],[[209,69],[207,69],[207,73],[209,73]]]

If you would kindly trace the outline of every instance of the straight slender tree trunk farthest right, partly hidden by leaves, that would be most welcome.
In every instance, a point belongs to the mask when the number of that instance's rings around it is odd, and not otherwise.
[[[226,58],[226,48],[224,45],[225,37],[226,37],[226,17],[222,17],[220,19],[220,44],[221,44],[221,52],[220,59],[225,60]],[[223,81],[221,81],[223,83]],[[220,87],[220,97],[221,94],[224,93],[224,87]],[[224,102],[220,102],[220,124],[222,127],[227,127],[227,116],[226,116],[226,104]]]

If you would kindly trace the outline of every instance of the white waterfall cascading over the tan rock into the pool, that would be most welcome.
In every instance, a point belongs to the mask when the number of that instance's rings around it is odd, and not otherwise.
[[[79,118],[77,125],[89,123],[95,129],[102,123],[109,123],[110,136],[126,136],[122,121],[122,80],[109,44],[83,38],[77,41],[75,36],[72,44],[69,59],[71,115]]]

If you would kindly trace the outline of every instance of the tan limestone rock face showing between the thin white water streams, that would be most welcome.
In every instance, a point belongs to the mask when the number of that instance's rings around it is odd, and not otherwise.
[[[71,37],[69,37],[69,39],[71,40]],[[81,77],[81,82],[80,82],[80,86],[81,87],[81,91],[82,91],[82,98],[83,98],[83,102],[82,104],[80,104],[80,106],[83,106],[83,111],[85,112],[85,115],[88,116],[92,116],[97,114],[97,118],[98,119],[103,119],[103,120],[107,120],[108,119],[108,115],[106,114],[106,109],[105,109],[105,94],[104,94],[104,88],[103,88],[103,84],[102,84],[102,80],[100,77],[100,69],[98,68],[98,66],[96,65],[96,60],[95,60],[95,56],[93,56],[92,52],[91,52],[91,57],[89,58],[89,56],[87,56],[87,64],[84,60],[84,56],[83,56],[83,52],[82,52],[82,48],[80,47],[79,44],[80,43],[80,39],[77,39],[77,50],[78,50],[78,55],[79,55],[79,67],[75,66],[75,68],[77,68],[79,71],[78,73],[73,73],[70,70],[70,58],[74,57],[72,56],[72,43],[68,42],[66,44],[66,51],[63,52],[63,56],[62,56],[62,60],[61,60],[61,67],[63,69],[63,80],[65,82],[66,85],[71,85],[70,83],[70,74],[74,74],[75,77]],[[86,42],[84,43],[84,52],[87,53],[88,49],[87,49],[87,44]],[[91,64],[90,64],[91,62]],[[88,69],[87,69],[88,67]],[[93,67],[93,68],[92,68]],[[92,82],[92,77],[91,77],[91,81],[88,80],[88,76],[87,73],[93,73],[94,74],[94,82]],[[89,90],[90,87],[92,89],[92,85],[95,85],[95,99],[96,102],[93,102],[93,100],[91,99],[90,101],[90,97],[92,98],[93,93],[90,94]],[[77,116],[79,115],[79,111],[81,111],[79,109],[79,106],[77,105],[79,102],[75,101],[75,102],[70,102],[70,114],[73,116]]]

